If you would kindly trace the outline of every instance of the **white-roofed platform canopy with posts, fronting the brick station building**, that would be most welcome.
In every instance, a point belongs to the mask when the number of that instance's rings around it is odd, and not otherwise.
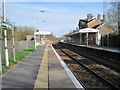
[[[66,41],[80,45],[99,45],[101,34],[93,28],[80,29],[65,35]]]

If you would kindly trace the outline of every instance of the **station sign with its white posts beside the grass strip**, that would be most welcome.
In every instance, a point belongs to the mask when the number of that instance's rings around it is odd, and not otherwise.
[[[5,49],[5,62],[6,62],[6,66],[9,66],[9,58],[8,58],[8,45],[7,45],[7,30],[6,29],[12,29],[12,36],[13,36],[13,55],[14,55],[14,62],[16,62],[15,59],[15,45],[14,45],[14,26],[12,24],[10,24],[9,22],[7,22],[6,20],[6,0],[2,0],[2,5],[3,5],[3,19],[1,21],[1,26],[4,29],[4,49]],[[0,58],[0,63],[1,62],[1,58]],[[1,64],[0,64],[1,67]]]

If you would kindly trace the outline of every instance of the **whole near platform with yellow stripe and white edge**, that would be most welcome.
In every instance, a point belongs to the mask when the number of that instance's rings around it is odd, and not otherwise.
[[[51,44],[41,46],[5,73],[2,76],[2,88],[83,90]]]

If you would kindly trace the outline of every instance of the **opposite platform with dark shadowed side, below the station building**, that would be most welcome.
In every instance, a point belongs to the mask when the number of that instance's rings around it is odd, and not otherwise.
[[[120,49],[119,48],[78,45],[78,44],[72,44],[72,43],[68,43],[68,42],[60,42],[59,44],[63,45],[65,48],[74,50],[75,52],[77,52],[79,54],[82,54],[82,52],[84,52],[87,54],[99,56],[104,59],[111,59],[114,61],[119,61],[119,58],[120,58]]]

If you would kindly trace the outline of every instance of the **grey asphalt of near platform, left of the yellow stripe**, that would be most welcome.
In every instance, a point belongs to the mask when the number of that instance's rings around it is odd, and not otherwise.
[[[2,77],[2,88],[34,88],[44,49],[45,46],[36,49],[6,73]]]

